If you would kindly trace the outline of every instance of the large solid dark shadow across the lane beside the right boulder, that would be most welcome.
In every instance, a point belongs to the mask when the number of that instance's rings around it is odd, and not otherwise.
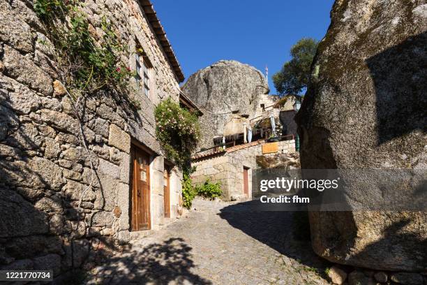
[[[257,200],[238,203],[220,210],[220,217],[234,228],[267,244],[303,265],[323,272],[330,263],[317,256],[310,242],[307,212],[253,210]]]

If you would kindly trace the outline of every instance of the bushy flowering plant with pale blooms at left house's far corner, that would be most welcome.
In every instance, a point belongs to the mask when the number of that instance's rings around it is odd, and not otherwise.
[[[190,166],[191,152],[200,138],[197,115],[181,108],[171,98],[158,104],[154,115],[156,135],[167,158],[185,170]]]

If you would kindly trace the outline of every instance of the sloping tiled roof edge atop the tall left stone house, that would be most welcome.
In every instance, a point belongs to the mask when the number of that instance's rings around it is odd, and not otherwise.
[[[160,41],[160,45],[162,45],[165,54],[167,55],[167,59],[177,75],[179,82],[183,82],[185,79],[181,66],[179,65],[177,56],[175,55],[174,50],[172,50],[172,45],[170,45],[170,41],[166,37],[165,29],[163,29],[162,24],[160,24],[160,20],[158,20],[156,10],[153,8],[153,3],[150,0],[139,0],[144,10],[145,15],[147,15],[147,20],[153,28],[154,33]]]

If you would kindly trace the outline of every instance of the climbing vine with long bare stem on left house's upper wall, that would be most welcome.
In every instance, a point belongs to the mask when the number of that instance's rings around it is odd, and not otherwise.
[[[128,79],[133,75],[130,68],[121,61],[121,55],[128,56],[128,47],[114,33],[110,20],[102,17],[100,31],[96,31],[89,24],[82,5],[84,4],[78,0],[33,2],[34,11],[43,22],[47,37],[54,46],[58,80],[70,100],[79,123],[82,146],[90,160],[91,182],[80,193],[80,210],[82,198],[91,189],[97,177],[84,136],[84,99],[105,91],[112,95],[127,96]],[[118,97],[115,96],[116,99]],[[128,102],[130,107],[135,107],[133,101]]]

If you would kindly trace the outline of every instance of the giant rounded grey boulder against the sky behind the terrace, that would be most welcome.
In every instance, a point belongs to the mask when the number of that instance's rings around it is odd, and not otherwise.
[[[223,60],[191,75],[182,89],[204,114],[199,147],[206,148],[213,146],[213,137],[223,135],[225,124],[233,117],[253,116],[260,95],[269,92],[260,71]]]

